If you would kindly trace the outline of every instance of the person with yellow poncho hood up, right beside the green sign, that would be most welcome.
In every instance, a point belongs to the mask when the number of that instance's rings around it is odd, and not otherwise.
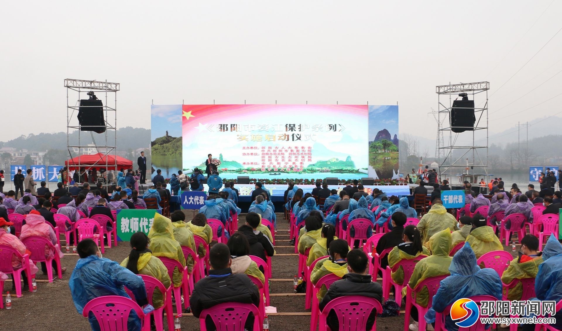
[[[185,257],[183,256],[182,246],[174,239],[174,226],[170,219],[158,213],[154,215],[154,222],[152,228],[148,232],[148,239],[150,239],[150,247],[152,255],[156,257],[169,257],[176,260],[185,266]],[[178,267],[174,268],[172,274],[172,282],[174,287],[180,287],[183,280],[183,271]]]

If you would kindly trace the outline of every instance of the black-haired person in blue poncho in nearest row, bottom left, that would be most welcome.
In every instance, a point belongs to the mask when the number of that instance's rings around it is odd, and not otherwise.
[[[84,239],[76,247],[80,259],[70,275],[69,287],[74,306],[80,314],[84,306],[92,299],[101,296],[121,296],[130,298],[125,292],[127,287],[134,294],[134,300],[144,312],[154,310],[148,305],[146,288],[142,278],[135,275],[129,269],[122,267],[119,263],[108,259],[102,259],[97,244],[92,239]],[[88,321],[92,330],[99,331],[99,323],[90,312]],[[138,315],[131,311],[127,323],[130,331],[140,331],[141,321]]]

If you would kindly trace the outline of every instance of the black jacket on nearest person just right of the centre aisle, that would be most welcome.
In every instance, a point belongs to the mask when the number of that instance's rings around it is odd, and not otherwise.
[[[380,302],[383,297],[383,289],[379,283],[371,282],[371,275],[349,273],[343,275],[342,280],[336,280],[336,282],[330,285],[328,292],[326,292],[326,295],[319,304],[320,310],[323,310],[331,300],[342,296],[364,296],[375,298]],[[367,330],[373,328],[373,324],[375,323],[375,318],[378,312],[380,311],[376,311],[373,309],[373,311],[371,311],[371,314],[369,314],[366,325]],[[332,330],[338,329],[337,327],[335,327],[336,325],[338,325],[338,318],[333,310],[328,314],[327,324]]]

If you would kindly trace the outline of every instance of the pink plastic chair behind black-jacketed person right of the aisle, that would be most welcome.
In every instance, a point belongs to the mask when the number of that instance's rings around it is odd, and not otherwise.
[[[330,310],[334,310],[338,316],[339,330],[355,331],[366,330],[367,319],[373,309],[378,313],[382,312],[383,307],[375,298],[363,296],[343,296],[328,302],[320,314],[320,325],[318,331],[327,331],[326,319]],[[371,330],[377,329],[377,319]]]

